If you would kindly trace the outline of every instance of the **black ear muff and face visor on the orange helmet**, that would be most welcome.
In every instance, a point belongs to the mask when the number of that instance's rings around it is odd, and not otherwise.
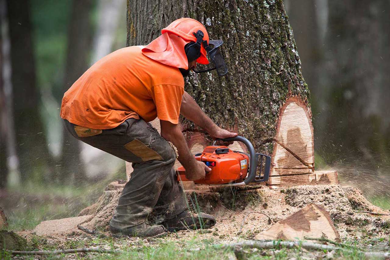
[[[223,59],[222,54],[219,50],[219,47],[223,44],[222,40],[210,40],[209,43],[203,40],[204,34],[201,30],[198,30],[197,33],[193,32],[193,35],[196,37],[196,41],[187,43],[184,46],[184,51],[186,52],[187,59],[189,62],[196,61],[200,57],[200,48],[203,47],[206,49],[206,52],[209,54],[209,59],[213,61],[215,67],[204,69],[200,71],[194,70],[195,73],[203,73],[207,71],[212,71],[216,69],[218,76],[223,76],[227,73],[227,66],[225,59]],[[213,48],[210,47],[210,45]]]

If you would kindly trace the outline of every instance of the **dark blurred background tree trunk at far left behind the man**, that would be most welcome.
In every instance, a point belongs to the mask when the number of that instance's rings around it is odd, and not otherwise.
[[[44,179],[52,157],[46,144],[39,113],[40,91],[36,86],[30,1],[7,1],[11,40],[12,90],[17,152],[21,180]]]

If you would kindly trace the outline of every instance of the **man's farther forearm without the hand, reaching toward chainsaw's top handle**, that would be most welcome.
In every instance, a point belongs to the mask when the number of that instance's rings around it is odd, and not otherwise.
[[[184,91],[180,114],[187,118],[188,120],[194,122],[208,133],[211,133],[213,129],[218,126],[203,112],[203,110],[199,107],[199,105],[195,102],[195,100]]]

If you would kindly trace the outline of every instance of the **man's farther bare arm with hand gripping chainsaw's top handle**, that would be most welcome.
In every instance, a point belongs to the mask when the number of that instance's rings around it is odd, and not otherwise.
[[[184,91],[181,101],[180,114],[206,130],[214,139],[236,137],[236,133],[218,127],[199,107],[195,100]],[[220,145],[229,145],[233,142],[219,142]]]

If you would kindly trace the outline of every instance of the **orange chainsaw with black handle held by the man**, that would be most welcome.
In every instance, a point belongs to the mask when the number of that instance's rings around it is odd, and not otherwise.
[[[202,153],[194,155],[196,160],[204,162],[211,168],[211,171],[206,172],[205,178],[194,181],[196,184],[241,186],[251,182],[268,181],[271,157],[255,153],[248,139],[236,136],[222,141],[242,142],[249,153],[232,151],[226,146],[216,146],[216,141],[212,146],[204,148]],[[177,180],[188,181],[183,166],[177,168]]]

